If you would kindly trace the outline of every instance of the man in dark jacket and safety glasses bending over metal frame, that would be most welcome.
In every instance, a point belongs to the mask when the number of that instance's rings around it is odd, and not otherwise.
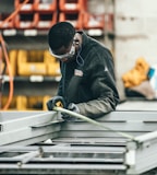
[[[47,102],[48,109],[61,100],[65,108],[95,118],[116,109],[116,88],[111,52],[69,22],[55,24],[48,33],[50,54],[60,60],[58,94]]]

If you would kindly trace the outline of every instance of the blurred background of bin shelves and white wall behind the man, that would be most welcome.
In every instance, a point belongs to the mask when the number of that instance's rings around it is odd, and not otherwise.
[[[1,109],[47,110],[60,80],[47,33],[58,21],[70,21],[111,50],[121,101],[156,100],[155,0],[29,0],[20,8],[23,2],[0,2]]]

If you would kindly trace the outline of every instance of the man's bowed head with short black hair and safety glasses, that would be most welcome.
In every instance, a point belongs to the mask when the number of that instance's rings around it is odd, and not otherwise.
[[[71,23],[60,22],[55,24],[48,33],[48,44],[51,55],[59,59],[74,56],[74,35],[75,28]]]

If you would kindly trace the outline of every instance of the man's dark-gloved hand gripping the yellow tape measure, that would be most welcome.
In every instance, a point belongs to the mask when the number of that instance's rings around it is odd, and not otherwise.
[[[53,96],[47,102],[48,110],[52,110],[53,107],[65,107],[65,102],[62,96]]]

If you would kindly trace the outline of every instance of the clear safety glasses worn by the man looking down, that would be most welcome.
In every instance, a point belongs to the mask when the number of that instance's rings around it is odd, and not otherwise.
[[[71,58],[71,57],[73,57],[75,55],[75,46],[72,44],[72,47],[71,47],[70,51],[67,52],[67,54],[63,54],[63,55],[56,55],[56,54],[53,54],[50,47],[49,47],[49,51],[50,51],[51,56],[53,56],[53,57],[62,60],[64,58]]]

